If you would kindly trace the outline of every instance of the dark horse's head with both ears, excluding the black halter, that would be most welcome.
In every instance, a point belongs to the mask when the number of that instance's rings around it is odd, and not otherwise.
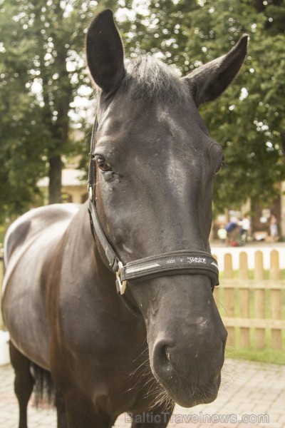
[[[94,200],[123,265],[165,254],[170,265],[187,252],[210,257],[212,188],[223,154],[198,108],[227,88],[246,53],[243,36],[228,54],[182,78],[150,56],[125,61],[110,10],[91,24],[86,54],[98,86]],[[176,269],[129,280],[125,292],[145,321],[152,373],[185,407],[212,402],[219,389],[227,331],[212,285],[202,268]]]

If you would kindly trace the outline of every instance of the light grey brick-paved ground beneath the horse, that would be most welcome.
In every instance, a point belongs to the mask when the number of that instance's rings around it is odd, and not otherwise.
[[[285,366],[227,360],[223,372],[216,401],[192,409],[175,407],[169,427],[285,427]],[[51,409],[37,410],[31,403],[28,415],[29,428],[56,428],[56,414]],[[0,427],[17,428],[17,419],[13,371],[6,365],[0,367]],[[121,415],[115,427],[129,428],[127,415]]]

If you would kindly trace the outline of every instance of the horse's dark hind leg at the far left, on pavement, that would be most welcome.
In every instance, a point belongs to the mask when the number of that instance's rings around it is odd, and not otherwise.
[[[30,372],[31,362],[14,347],[11,341],[10,358],[15,372],[14,391],[19,402],[19,428],[27,428],[27,406],[34,384]]]

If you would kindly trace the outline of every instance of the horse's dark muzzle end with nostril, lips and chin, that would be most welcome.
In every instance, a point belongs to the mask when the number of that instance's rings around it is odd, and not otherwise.
[[[207,404],[217,397],[224,363],[224,340],[197,350],[158,340],[152,350],[152,372],[172,399],[182,407]],[[193,339],[195,342],[195,339]],[[176,342],[177,343],[177,342]],[[214,346],[214,349],[213,349]]]

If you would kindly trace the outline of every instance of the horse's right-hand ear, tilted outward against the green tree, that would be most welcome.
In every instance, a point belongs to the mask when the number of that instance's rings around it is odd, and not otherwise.
[[[247,39],[244,34],[226,55],[185,76],[197,106],[217,98],[237,76],[247,54]]]

